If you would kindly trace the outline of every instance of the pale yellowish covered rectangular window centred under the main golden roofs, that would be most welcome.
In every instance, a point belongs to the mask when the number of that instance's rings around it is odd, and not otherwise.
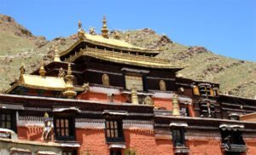
[[[143,77],[125,75],[126,89],[131,89],[133,83],[137,90],[143,90]]]

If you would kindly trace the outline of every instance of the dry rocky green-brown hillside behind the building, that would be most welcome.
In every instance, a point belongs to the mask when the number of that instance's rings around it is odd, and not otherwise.
[[[206,48],[184,46],[173,42],[165,35],[159,35],[145,28],[137,31],[120,32],[121,38],[127,38],[137,46],[161,48],[158,57],[172,60],[173,63],[188,65],[181,73],[184,78],[205,80],[221,84],[221,91],[230,91],[230,95],[254,98],[256,95],[256,63],[235,60],[215,55]],[[112,33],[111,33],[112,35]],[[67,49],[77,40],[77,36],[57,37],[52,41],[44,37],[35,37],[32,32],[20,26],[9,16],[0,14],[0,89],[9,89],[9,83],[19,76],[21,64],[26,71],[38,68],[41,60],[49,63],[54,56],[53,46]]]

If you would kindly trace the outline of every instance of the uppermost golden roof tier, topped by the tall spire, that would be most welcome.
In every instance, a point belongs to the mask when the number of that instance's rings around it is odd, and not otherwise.
[[[104,47],[108,48],[113,48],[113,49],[120,49],[120,50],[128,50],[128,51],[133,51],[133,52],[140,52],[140,53],[148,53],[148,54],[159,54],[160,49],[146,49],[146,48],[141,48],[132,45],[131,43],[127,43],[124,40],[118,40],[114,39],[112,37],[109,38],[104,38],[99,35],[91,35],[84,33],[84,39],[79,40],[78,42],[74,43],[73,46],[71,46],[69,49],[61,52],[62,55],[67,55],[72,49],[74,49],[76,46],[79,45],[79,43],[93,43],[96,45],[101,45]]]

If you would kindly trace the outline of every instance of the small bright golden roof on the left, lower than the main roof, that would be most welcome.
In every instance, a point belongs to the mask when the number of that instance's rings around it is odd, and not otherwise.
[[[32,89],[45,89],[62,91],[66,87],[63,78],[58,77],[42,77],[38,75],[23,74],[20,76],[19,86]]]

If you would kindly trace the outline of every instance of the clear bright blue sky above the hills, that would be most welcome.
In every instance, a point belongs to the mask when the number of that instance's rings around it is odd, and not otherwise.
[[[0,14],[49,40],[77,32],[78,20],[99,32],[106,14],[109,29],[149,27],[177,43],[256,61],[256,0],[0,0]]]

